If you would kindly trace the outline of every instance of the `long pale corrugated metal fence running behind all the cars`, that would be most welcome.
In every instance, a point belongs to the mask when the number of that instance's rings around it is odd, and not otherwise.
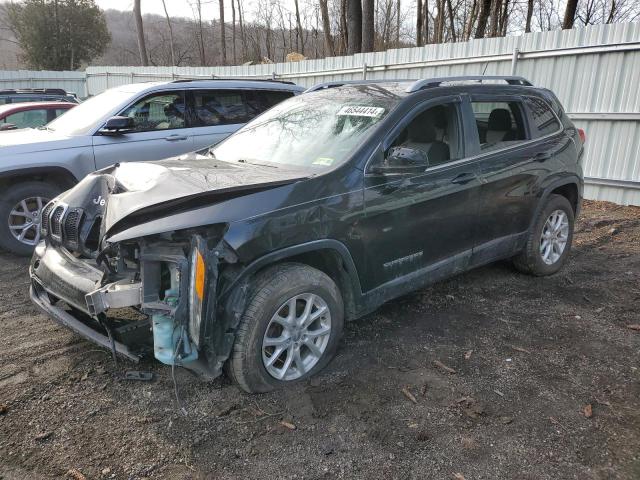
[[[20,77],[18,72],[0,72],[0,88],[5,78],[11,76],[3,77],[3,73]],[[49,76],[50,72],[39,73]],[[85,73],[64,73],[74,82],[82,82],[80,76],[86,75],[86,95],[132,82],[187,78],[276,78],[310,86],[363,77],[521,75],[534,85],[552,89],[569,116],[585,129],[585,196],[640,205],[640,23],[530,33],[298,63],[236,67],[89,67]],[[45,85],[37,83],[37,86]],[[83,90],[76,88],[76,91]]]

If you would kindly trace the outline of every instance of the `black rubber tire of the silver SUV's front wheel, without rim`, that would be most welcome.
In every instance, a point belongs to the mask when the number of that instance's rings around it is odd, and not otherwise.
[[[22,243],[13,236],[9,229],[10,218],[15,218],[10,217],[11,211],[22,200],[33,197],[51,200],[58,196],[61,191],[62,189],[57,185],[37,181],[18,183],[7,187],[0,197],[0,247],[17,255],[31,255],[35,245]]]

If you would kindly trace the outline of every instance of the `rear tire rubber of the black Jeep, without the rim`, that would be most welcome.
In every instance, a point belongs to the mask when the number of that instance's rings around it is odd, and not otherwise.
[[[569,222],[569,232],[567,236],[567,243],[562,254],[554,263],[548,264],[545,263],[540,252],[540,242],[545,223],[556,210],[561,210],[566,214]],[[569,200],[562,195],[551,194],[546,205],[538,214],[533,224],[533,228],[529,231],[524,250],[513,259],[515,267],[523,273],[535,276],[553,275],[560,270],[571,251],[574,220],[573,207],[571,206],[571,203],[569,203]]]

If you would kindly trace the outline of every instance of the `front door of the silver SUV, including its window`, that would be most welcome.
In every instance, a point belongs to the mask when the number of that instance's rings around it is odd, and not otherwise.
[[[96,168],[116,162],[144,162],[181,155],[193,150],[182,90],[154,92],[136,100],[118,115],[134,119],[134,131],[93,137]]]

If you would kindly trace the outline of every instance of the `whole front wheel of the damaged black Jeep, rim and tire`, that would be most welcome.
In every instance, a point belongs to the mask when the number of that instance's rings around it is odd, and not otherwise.
[[[227,374],[249,393],[268,392],[322,370],[344,326],[337,285],[307,265],[287,263],[259,273],[236,332]]]

